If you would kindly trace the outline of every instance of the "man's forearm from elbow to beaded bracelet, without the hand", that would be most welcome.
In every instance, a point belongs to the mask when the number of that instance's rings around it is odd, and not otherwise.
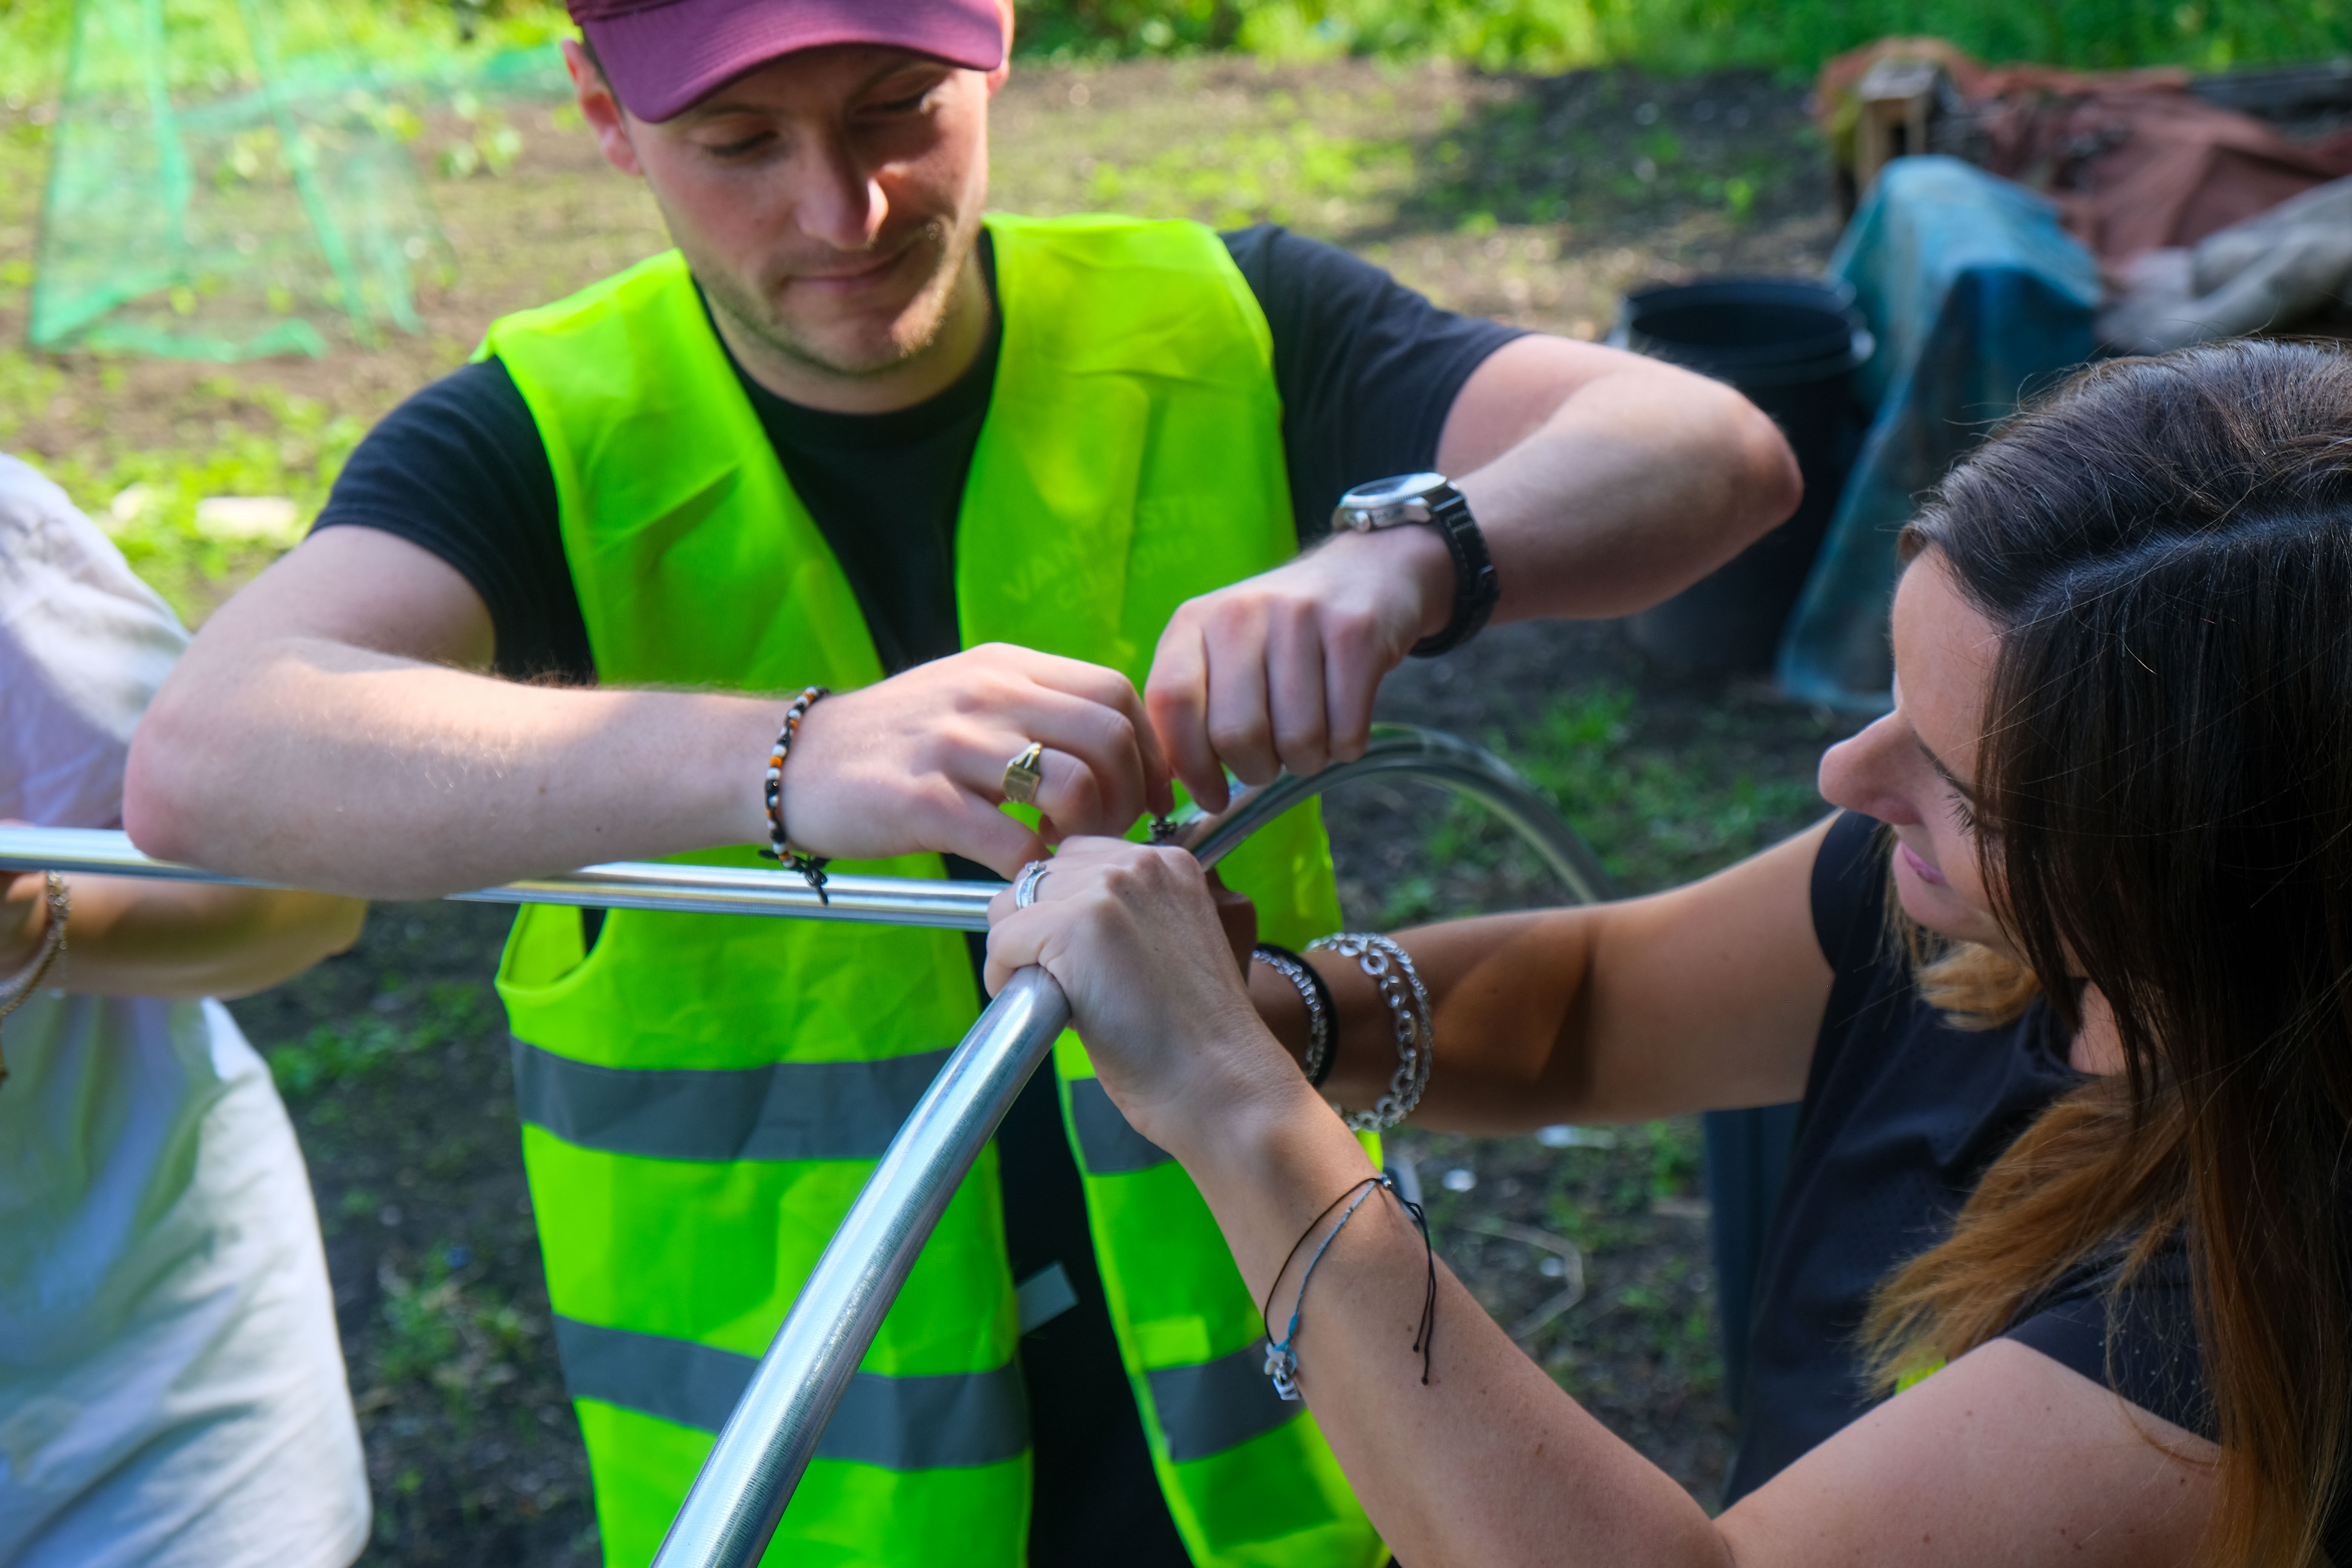
[[[522,686],[315,637],[188,651],[132,743],[146,853],[362,898],[764,839],[783,705]]]

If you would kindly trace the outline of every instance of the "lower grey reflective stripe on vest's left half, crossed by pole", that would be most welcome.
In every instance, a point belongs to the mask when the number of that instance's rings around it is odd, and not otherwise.
[[[597,1328],[555,1314],[555,1349],[574,1399],[642,1410],[680,1427],[717,1432],[750,1385],[755,1356],[656,1333]],[[993,1373],[884,1378],[851,1373],[816,1441],[821,1460],[884,1469],[969,1469],[1028,1448],[1021,1366]]]

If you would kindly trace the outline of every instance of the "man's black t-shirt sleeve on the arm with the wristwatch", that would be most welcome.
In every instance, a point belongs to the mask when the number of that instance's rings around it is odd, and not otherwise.
[[[1526,336],[1439,310],[1381,268],[1275,223],[1225,235],[1275,336],[1282,451],[1301,543],[1343,491],[1437,465],[1454,397],[1486,355]]]

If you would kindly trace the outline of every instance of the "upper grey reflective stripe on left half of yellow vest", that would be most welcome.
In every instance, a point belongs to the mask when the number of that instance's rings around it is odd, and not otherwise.
[[[597,1067],[517,1039],[515,1103],[532,1126],[604,1154],[882,1159],[946,1060]]]

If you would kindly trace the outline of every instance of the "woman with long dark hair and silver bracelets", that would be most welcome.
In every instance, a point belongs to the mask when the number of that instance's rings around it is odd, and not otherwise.
[[[1414,1568],[2352,1561],[2352,357],[2098,367],[1903,555],[1844,813],[1693,886],[1247,983],[1185,856],[1075,842],[1000,900],[993,980],[1070,992]],[[1477,1133],[1804,1095],[1722,1516],[1442,1267],[1430,1333],[1331,1114],[1416,1093]]]

